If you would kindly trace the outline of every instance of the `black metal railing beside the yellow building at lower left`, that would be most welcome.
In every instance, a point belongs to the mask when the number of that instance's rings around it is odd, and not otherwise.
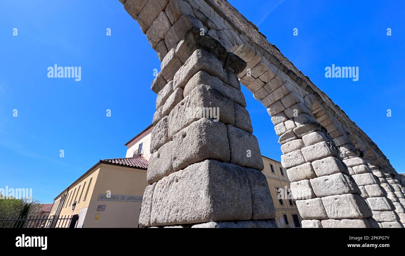
[[[0,217],[0,228],[75,228],[79,215]]]

